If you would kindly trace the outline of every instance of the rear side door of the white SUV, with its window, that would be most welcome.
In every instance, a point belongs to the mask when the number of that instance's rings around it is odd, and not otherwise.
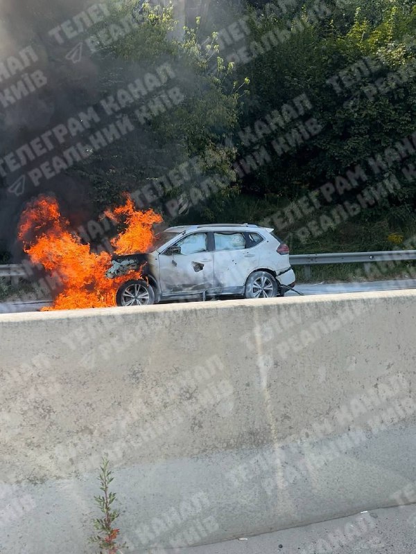
[[[246,233],[218,231],[214,234],[214,287],[218,292],[238,294],[248,275],[257,269],[259,255],[248,244]]]

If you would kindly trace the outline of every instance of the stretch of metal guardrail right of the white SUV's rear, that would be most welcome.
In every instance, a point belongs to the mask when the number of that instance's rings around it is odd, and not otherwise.
[[[303,265],[305,277],[311,277],[311,266],[330,264],[362,263],[370,265],[372,262],[407,262],[416,260],[416,250],[388,250],[383,252],[343,252],[331,254],[295,254],[291,256],[291,265]]]

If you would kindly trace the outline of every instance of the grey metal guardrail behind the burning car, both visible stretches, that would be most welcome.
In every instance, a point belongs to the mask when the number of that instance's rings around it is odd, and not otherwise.
[[[384,252],[342,252],[330,254],[295,254],[291,256],[291,265],[303,265],[305,277],[311,276],[311,266],[329,264],[370,264],[372,262],[406,262],[416,260],[416,250],[388,250]],[[11,278],[17,282],[27,276],[23,265],[0,265],[0,278]]]

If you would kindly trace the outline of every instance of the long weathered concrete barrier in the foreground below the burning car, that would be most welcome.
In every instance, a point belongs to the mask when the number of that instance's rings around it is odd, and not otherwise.
[[[3,314],[0,551],[131,552],[410,501],[416,292]]]

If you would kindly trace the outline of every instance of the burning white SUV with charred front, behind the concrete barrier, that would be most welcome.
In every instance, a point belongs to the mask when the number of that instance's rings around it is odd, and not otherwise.
[[[288,246],[273,229],[247,223],[171,227],[156,236],[150,252],[114,256],[106,276],[132,269],[143,278],[121,285],[119,306],[217,296],[272,298],[295,285]]]

